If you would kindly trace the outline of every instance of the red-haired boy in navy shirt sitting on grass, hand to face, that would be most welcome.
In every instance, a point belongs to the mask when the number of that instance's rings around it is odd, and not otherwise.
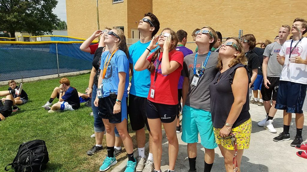
[[[80,99],[76,88],[70,86],[68,78],[60,80],[60,86],[54,88],[49,101],[42,107],[45,107],[49,113],[60,110],[76,110],[80,107]],[[58,98],[59,101],[52,105],[52,101]],[[52,107],[50,107],[52,105]]]

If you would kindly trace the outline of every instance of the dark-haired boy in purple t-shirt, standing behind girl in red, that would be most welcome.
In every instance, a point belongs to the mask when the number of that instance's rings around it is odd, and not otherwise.
[[[193,51],[185,47],[185,44],[187,43],[187,38],[188,38],[188,33],[185,32],[184,30],[178,30],[177,31],[177,36],[178,36],[178,44],[176,47],[177,51],[181,51],[183,53],[183,56],[187,56],[188,54],[193,54]],[[179,106],[179,114],[181,112],[181,97],[182,97],[182,84],[183,84],[183,76],[180,76],[179,82],[178,82],[178,106]],[[178,120],[177,120],[177,129],[176,132],[180,133],[181,130],[181,125],[180,125],[180,119],[179,119],[179,114],[178,114]]]

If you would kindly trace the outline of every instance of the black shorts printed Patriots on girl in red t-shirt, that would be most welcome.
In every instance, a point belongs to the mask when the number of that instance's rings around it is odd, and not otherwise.
[[[146,115],[148,119],[161,119],[162,123],[171,123],[178,118],[178,105],[154,103],[147,99]]]

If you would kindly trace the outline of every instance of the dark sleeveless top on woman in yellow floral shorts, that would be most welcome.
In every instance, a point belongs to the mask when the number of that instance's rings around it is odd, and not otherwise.
[[[231,84],[235,76],[235,71],[239,67],[244,67],[247,70],[247,66],[243,64],[237,64],[227,69],[225,72],[221,73],[220,71],[216,74],[216,77],[209,85],[210,91],[210,102],[211,102],[211,114],[212,114],[212,124],[215,128],[223,128],[228,118],[229,112],[231,110],[232,104],[235,100]],[[248,72],[248,71],[247,71]],[[251,78],[248,77],[248,84],[251,83]],[[248,88],[248,84],[246,87]],[[233,124],[232,128],[235,128],[249,118],[251,114],[249,113],[249,94],[248,89],[246,93],[246,102],[242,110]]]

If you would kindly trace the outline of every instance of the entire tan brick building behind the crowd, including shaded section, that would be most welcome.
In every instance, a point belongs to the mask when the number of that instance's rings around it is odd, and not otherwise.
[[[98,0],[100,28],[124,29],[126,38],[138,38],[138,23],[144,13],[153,12],[160,28],[191,32],[211,26],[223,37],[253,33],[257,40],[274,40],[282,24],[296,17],[307,20],[305,0]],[[95,0],[66,0],[68,36],[87,38],[97,29]],[[306,36],[306,35],[305,35]]]

